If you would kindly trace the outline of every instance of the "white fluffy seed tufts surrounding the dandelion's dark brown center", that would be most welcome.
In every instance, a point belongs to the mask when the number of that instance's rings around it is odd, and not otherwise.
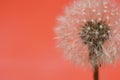
[[[118,51],[120,51],[119,10],[119,4],[114,0],[75,0],[73,4],[67,6],[63,16],[58,18],[58,26],[55,30],[58,45],[64,49],[66,57],[70,57],[69,59],[74,63],[89,63],[88,47],[82,43],[80,38],[81,25],[87,21],[105,21],[111,28],[108,31],[111,37],[102,45],[104,54],[99,57],[98,62],[103,64],[114,62],[116,57],[113,57],[113,54],[118,55]],[[99,27],[103,29],[102,25]],[[90,30],[91,28],[88,27],[87,29]],[[103,35],[103,37],[105,36],[106,34]],[[94,59],[92,62],[94,63]]]

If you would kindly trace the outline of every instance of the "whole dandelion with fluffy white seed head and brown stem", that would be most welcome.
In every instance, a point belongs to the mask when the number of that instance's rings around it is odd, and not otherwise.
[[[120,7],[114,0],[75,0],[57,18],[58,46],[75,64],[98,68],[112,64],[120,51]]]

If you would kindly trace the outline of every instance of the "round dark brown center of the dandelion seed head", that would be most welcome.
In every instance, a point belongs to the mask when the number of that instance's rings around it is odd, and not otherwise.
[[[103,21],[87,21],[81,30],[80,37],[88,45],[103,44],[109,38],[110,28]]]

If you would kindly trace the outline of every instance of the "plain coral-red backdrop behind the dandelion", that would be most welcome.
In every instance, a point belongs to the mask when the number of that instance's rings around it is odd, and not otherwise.
[[[55,48],[56,17],[71,1],[0,1],[0,80],[92,80]],[[100,80],[120,80],[120,64],[101,68]]]

